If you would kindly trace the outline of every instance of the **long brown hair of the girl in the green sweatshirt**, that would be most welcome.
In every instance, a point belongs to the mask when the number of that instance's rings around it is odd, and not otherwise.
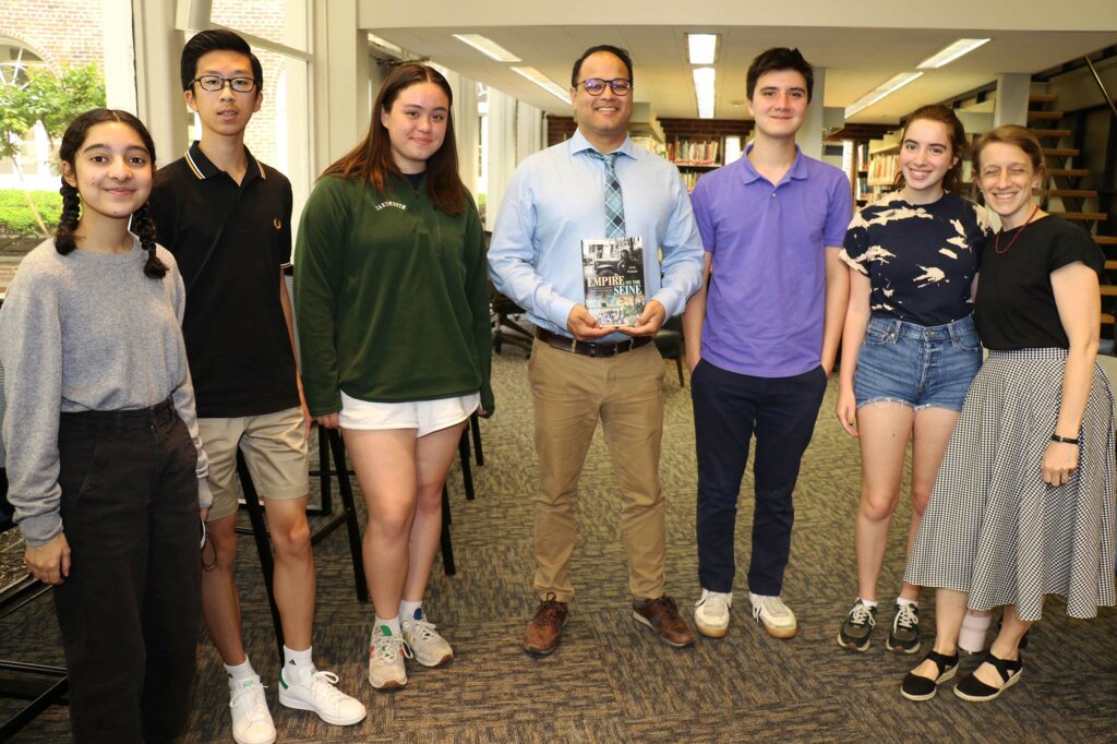
[[[357,146],[324,170],[322,178],[336,175],[343,179],[366,181],[375,187],[380,193],[384,193],[389,173],[403,178],[403,172],[400,171],[395,159],[392,158],[392,143],[388,130],[380,121],[380,115],[392,109],[392,104],[395,103],[400,92],[419,83],[433,83],[440,87],[451,107],[450,113],[447,114],[446,136],[442,140],[442,146],[427,160],[427,193],[430,194],[430,200],[438,209],[447,214],[460,214],[466,187],[458,174],[458,147],[454,136],[454,93],[446,78],[438,70],[426,65],[400,65],[388,74],[384,84],[380,87],[380,93],[376,94],[376,101],[372,105],[369,134]]]

